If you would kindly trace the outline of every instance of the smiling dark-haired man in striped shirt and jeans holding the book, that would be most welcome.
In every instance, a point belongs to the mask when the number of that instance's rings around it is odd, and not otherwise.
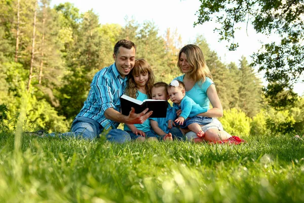
[[[97,72],[91,83],[91,90],[80,113],[75,117],[71,132],[62,136],[94,139],[105,134],[112,142],[130,141],[130,135],[116,129],[120,123],[143,123],[153,112],[145,109],[135,114],[132,109],[128,116],[120,113],[120,97],[126,86],[127,75],[134,66],[136,46],[128,40],[120,40],[114,47],[115,62]],[[49,134],[54,136],[53,133]]]

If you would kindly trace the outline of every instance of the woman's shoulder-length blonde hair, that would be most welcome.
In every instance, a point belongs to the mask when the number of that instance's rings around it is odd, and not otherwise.
[[[177,66],[182,73],[179,65],[181,53],[185,54],[189,65],[193,67],[193,69],[189,72],[189,77],[191,79],[193,79],[195,82],[205,82],[206,77],[209,77],[212,80],[211,72],[206,64],[204,54],[200,47],[189,44],[180,49],[178,53]]]

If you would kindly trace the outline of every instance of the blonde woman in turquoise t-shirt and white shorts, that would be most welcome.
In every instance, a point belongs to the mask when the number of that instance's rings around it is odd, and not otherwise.
[[[223,130],[221,123],[216,117],[223,115],[223,109],[217,95],[215,85],[212,81],[210,70],[205,62],[202,50],[196,45],[186,45],[178,53],[177,66],[184,75],[175,78],[175,80],[182,81],[185,85],[186,95],[192,98],[202,108],[207,108],[206,113],[198,114],[198,116],[212,117],[213,121],[209,124],[202,125],[202,130],[205,132],[204,138],[197,137],[194,132],[187,132],[189,130],[178,129],[174,127],[171,129],[173,137],[181,137],[181,133],[185,134],[186,138],[194,142],[216,142],[216,143],[235,143],[244,142],[238,137],[231,136]],[[211,103],[212,108],[209,109]],[[177,111],[179,116],[181,110]]]

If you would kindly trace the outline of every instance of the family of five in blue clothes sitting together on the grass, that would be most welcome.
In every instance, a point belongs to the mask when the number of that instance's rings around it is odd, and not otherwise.
[[[198,46],[186,45],[179,51],[177,66],[183,75],[169,85],[155,83],[148,62],[135,60],[135,54],[133,42],[120,40],[116,43],[113,53],[115,62],[96,73],[88,98],[72,123],[71,132],[61,133],[60,136],[94,139],[101,134],[108,141],[117,143],[173,139],[233,144],[244,142],[224,131],[217,119],[223,114],[222,106]],[[123,94],[141,101],[170,98],[173,107],[168,103],[166,118],[149,118],[153,112],[145,109],[136,114],[133,108],[125,116],[120,111]],[[124,130],[117,129],[120,123],[125,123]]]

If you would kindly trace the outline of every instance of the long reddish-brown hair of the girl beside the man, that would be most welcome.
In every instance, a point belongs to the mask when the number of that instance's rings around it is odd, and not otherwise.
[[[125,94],[128,96],[131,96],[132,98],[136,98],[138,96],[137,90],[138,86],[134,81],[134,76],[139,74],[148,74],[148,82],[146,83],[146,93],[148,95],[148,98],[151,98],[151,89],[154,84],[154,74],[151,69],[151,66],[149,63],[144,60],[143,58],[135,60],[134,67],[131,70],[129,76],[128,76],[128,83],[125,90]]]

